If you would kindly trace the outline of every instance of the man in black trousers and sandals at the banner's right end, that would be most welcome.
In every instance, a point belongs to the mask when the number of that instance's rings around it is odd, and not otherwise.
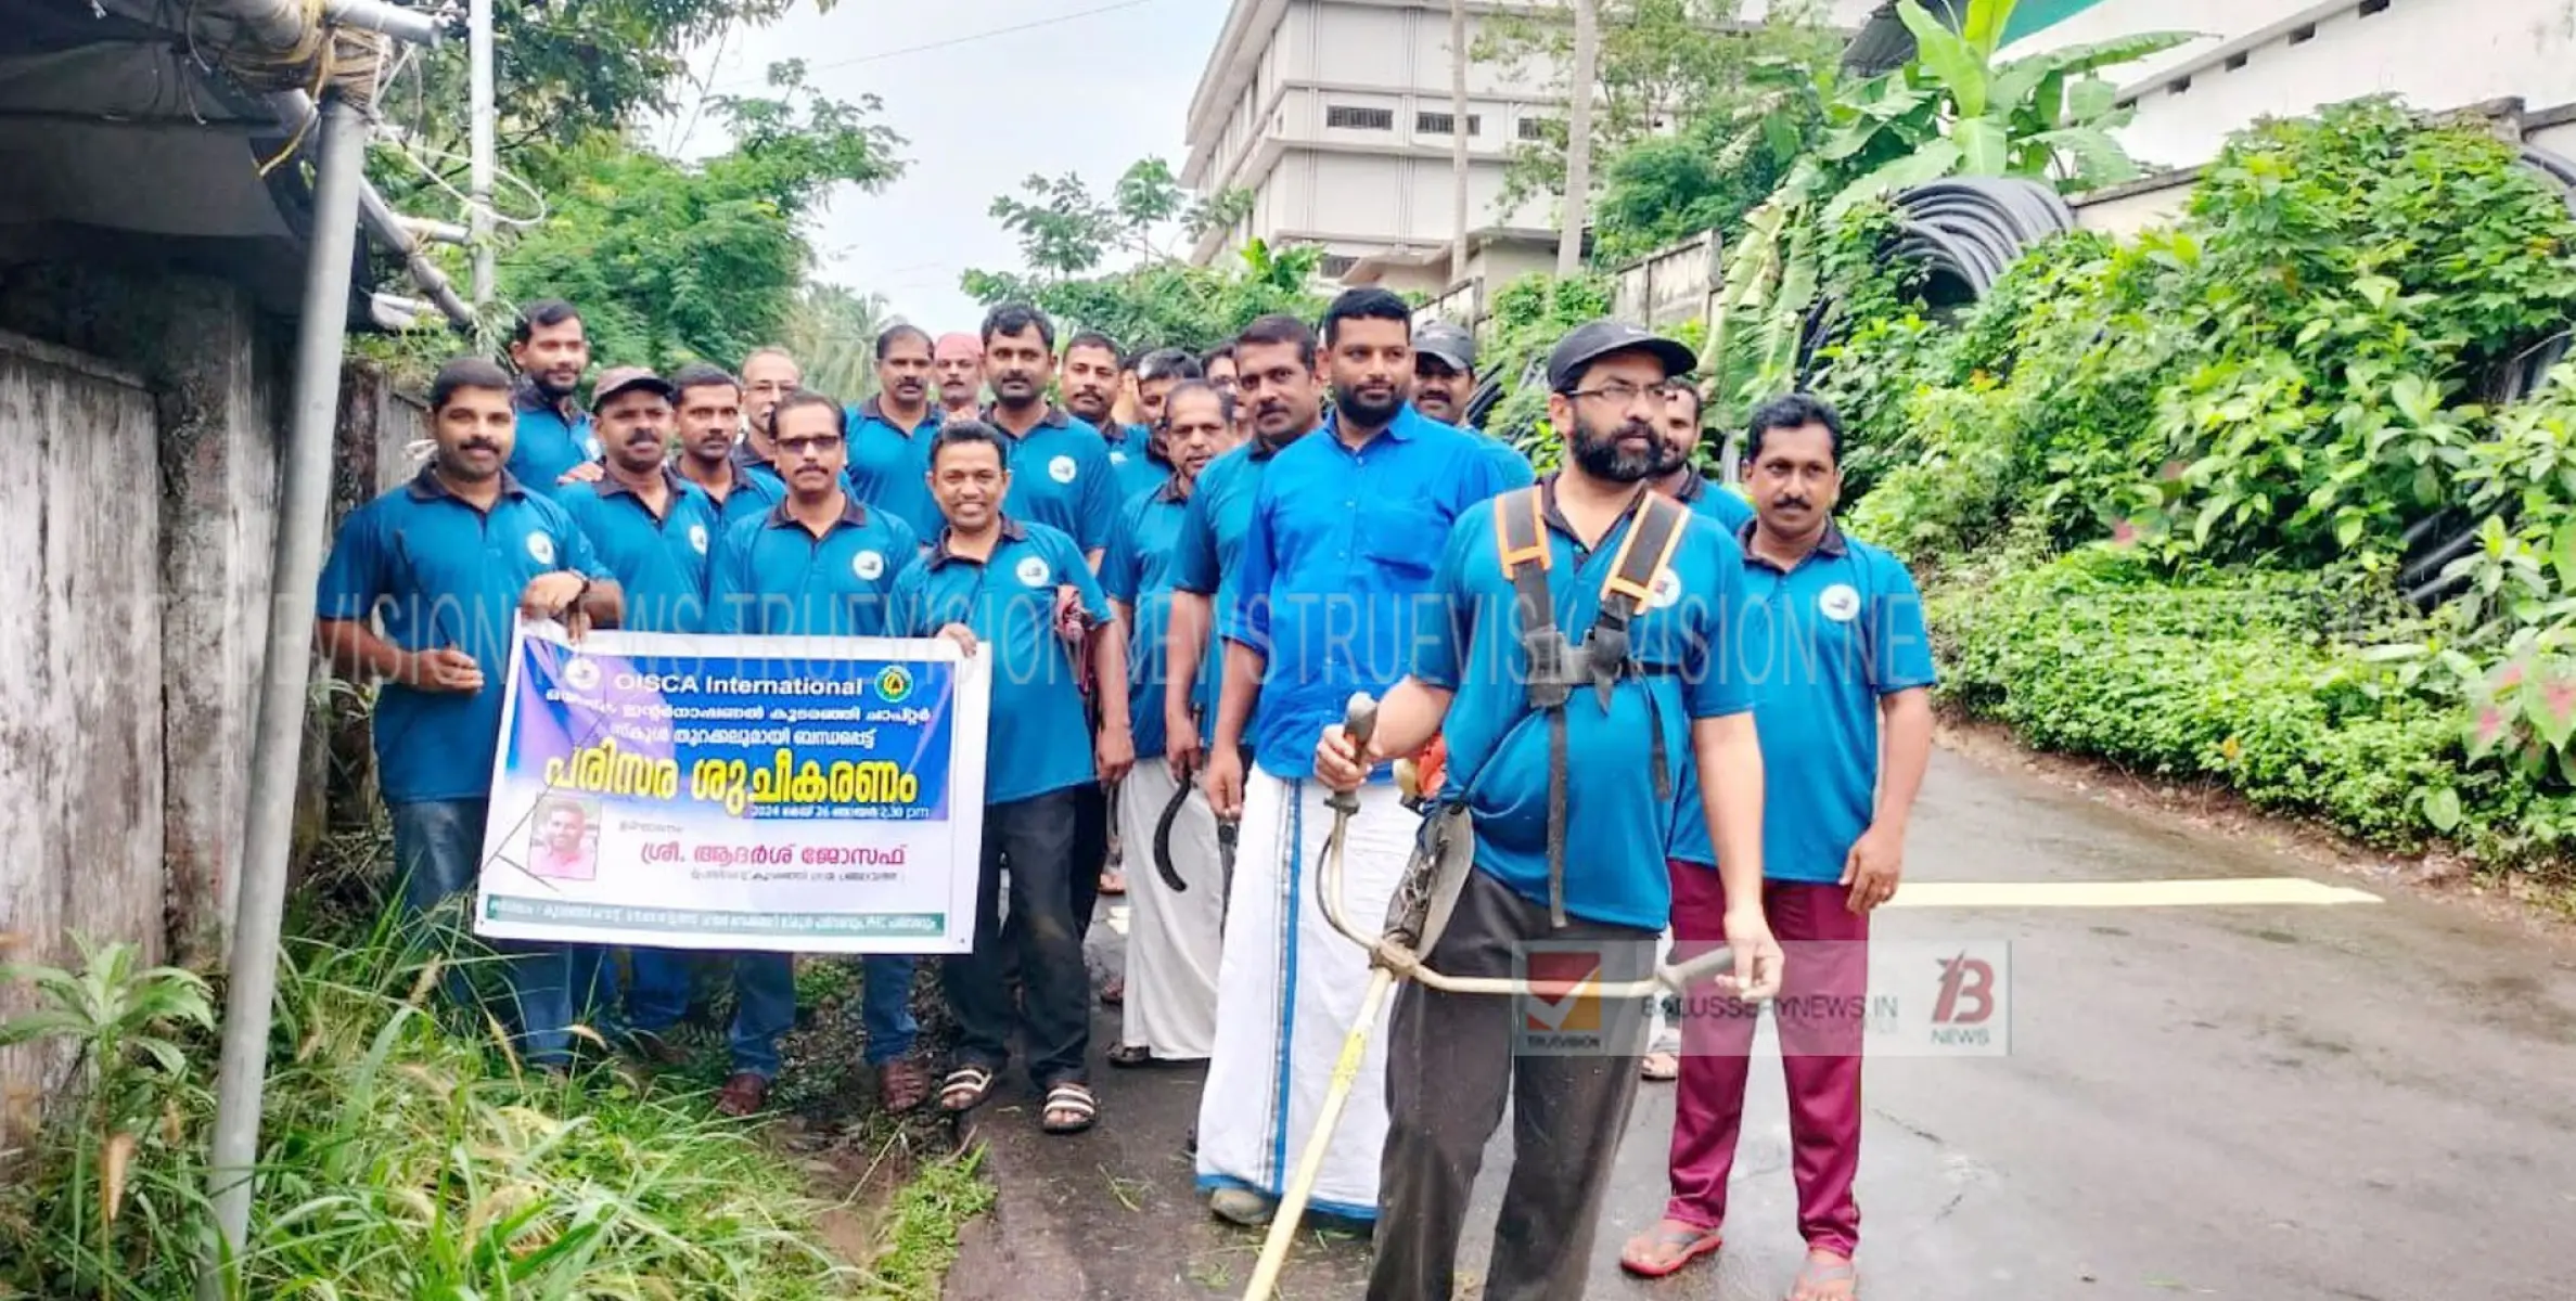
[[[945,964],[958,1051],[940,1105],[963,1113],[992,1095],[1018,1023],[1028,1074],[1046,1095],[1038,1123],[1079,1134],[1100,1116],[1087,1082],[1090,974],[1082,912],[1097,866],[1074,845],[1077,791],[1097,793],[1136,763],[1126,706],[1126,631],[1077,544],[1056,528],[1012,518],[1010,441],[981,420],[951,420],[930,443],[930,489],[948,526],[896,582],[896,631],[951,636],[992,665],[992,734],[984,745],[984,863],[974,951]],[[1092,634],[1066,649],[1056,634],[1056,587],[1072,585]],[[1097,745],[1084,721],[1074,654],[1100,683]],[[1010,866],[1010,930],[1002,927],[1002,868]],[[1018,956],[1020,992],[1007,982]],[[1018,1002],[1018,1007],[1015,1007]]]

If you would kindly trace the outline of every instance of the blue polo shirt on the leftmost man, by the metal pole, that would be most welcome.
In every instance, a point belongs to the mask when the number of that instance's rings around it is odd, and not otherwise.
[[[422,469],[340,523],[314,613],[384,618],[407,652],[453,647],[484,670],[474,696],[384,683],[376,690],[376,786],[386,804],[487,799],[510,688],[518,598],[538,575],[611,577],[564,508],[502,474],[492,510]]]

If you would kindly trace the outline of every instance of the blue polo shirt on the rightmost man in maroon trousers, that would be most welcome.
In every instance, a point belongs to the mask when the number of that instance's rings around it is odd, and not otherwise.
[[[1726,675],[1762,734],[1762,876],[1832,884],[1878,812],[1878,698],[1935,683],[1922,595],[1896,556],[1826,528],[1795,569],[1736,538],[1744,585]],[[1716,866],[1698,783],[1682,783],[1672,858]]]

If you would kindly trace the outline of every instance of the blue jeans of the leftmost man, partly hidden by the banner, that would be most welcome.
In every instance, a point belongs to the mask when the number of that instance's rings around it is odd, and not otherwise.
[[[469,915],[474,912],[474,881],[482,873],[487,804],[482,799],[428,799],[386,806],[394,819],[402,915],[417,940],[446,940],[443,948],[453,951],[456,940],[471,935]],[[590,1002],[603,984],[616,984],[603,951],[538,940],[489,940],[489,948],[500,956],[502,976],[510,982],[510,1005],[495,1012],[500,1012],[502,1025],[515,1028],[528,1064],[569,1067],[577,989],[580,1002]],[[456,966],[448,966],[443,987],[451,1002],[479,1007],[474,984]]]

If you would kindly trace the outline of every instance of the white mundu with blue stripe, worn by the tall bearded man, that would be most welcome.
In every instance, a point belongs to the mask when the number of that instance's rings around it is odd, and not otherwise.
[[[1332,830],[1329,791],[1244,775],[1244,824],[1216,984],[1216,1056],[1198,1103],[1198,1185],[1280,1198],[1314,1134],[1332,1067],[1368,992],[1368,951],[1324,920],[1314,863]],[[1345,917],[1360,933],[1386,922],[1386,902],[1412,860],[1422,817],[1394,783],[1360,788],[1345,840]],[[1368,1033],[1360,1079],[1332,1134],[1314,1211],[1378,1213],[1386,1146],[1386,1012]]]

